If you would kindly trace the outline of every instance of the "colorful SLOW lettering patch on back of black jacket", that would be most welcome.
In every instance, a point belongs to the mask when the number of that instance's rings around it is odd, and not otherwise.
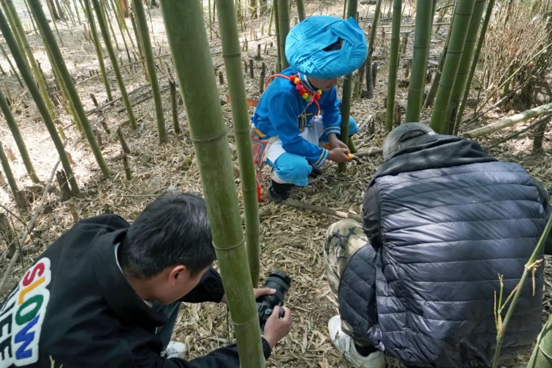
[[[38,361],[50,280],[50,259],[42,258],[25,273],[0,309],[0,368]]]

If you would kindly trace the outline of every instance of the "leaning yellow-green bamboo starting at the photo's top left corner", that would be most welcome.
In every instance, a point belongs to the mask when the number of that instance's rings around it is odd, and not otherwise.
[[[0,0],[0,2],[2,2],[2,6],[4,7],[4,9],[6,9],[8,18],[12,20],[11,21],[12,29],[14,30],[16,40],[19,39],[20,44],[23,45],[23,48],[21,50],[22,52],[26,53],[27,59],[29,61],[29,65],[33,70],[33,74],[35,75],[36,82],[38,83],[38,86],[40,88],[40,93],[42,94],[46,107],[50,112],[50,116],[55,121],[57,119],[56,112],[54,110],[54,105],[52,105],[52,101],[50,100],[50,95],[48,94],[46,81],[44,80],[43,75],[39,71],[38,64],[36,63],[36,59],[33,55],[33,50],[31,50],[27,37],[25,36],[25,30],[21,25],[21,20],[19,19],[19,15],[17,15],[17,10],[15,10],[13,0]]]

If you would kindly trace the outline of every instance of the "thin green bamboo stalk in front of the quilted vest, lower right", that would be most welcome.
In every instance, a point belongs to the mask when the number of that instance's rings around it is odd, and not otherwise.
[[[538,267],[538,263],[536,262],[537,257],[539,257],[542,251],[542,248],[544,247],[544,243],[546,242],[546,237],[548,237],[550,228],[552,228],[552,216],[550,216],[550,218],[548,219],[548,222],[544,227],[543,234],[540,236],[539,242],[537,243],[537,246],[533,250],[533,254],[529,257],[529,260],[525,264],[521,279],[519,280],[519,283],[516,286],[516,294],[514,294],[512,298],[512,301],[508,307],[508,311],[506,312],[506,317],[504,317],[504,321],[502,322],[500,329],[498,330],[498,333],[496,335],[496,348],[495,348],[495,356],[492,361],[492,368],[497,368],[498,366],[498,359],[500,358],[500,350],[502,348],[502,342],[504,339],[504,335],[506,333],[506,328],[508,327],[508,324],[512,318],[514,309],[516,308],[517,301],[519,299],[519,295],[521,294],[521,291],[525,284],[525,280],[527,279],[527,275],[532,269],[536,269]]]

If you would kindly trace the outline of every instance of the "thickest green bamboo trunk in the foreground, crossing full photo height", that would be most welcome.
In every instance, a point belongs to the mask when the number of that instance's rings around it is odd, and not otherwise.
[[[227,131],[201,4],[199,1],[161,0],[161,10],[188,113],[213,245],[235,327],[240,366],[264,368],[257,306],[247,264]]]

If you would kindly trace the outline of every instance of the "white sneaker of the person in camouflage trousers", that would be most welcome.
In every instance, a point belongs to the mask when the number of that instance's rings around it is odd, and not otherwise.
[[[328,332],[330,332],[332,343],[336,345],[338,350],[343,351],[345,359],[354,368],[385,368],[384,354],[381,351],[375,351],[368,356],[362,356],[358,353],[351,337],[342,331],[339,315],[330,318]]]

